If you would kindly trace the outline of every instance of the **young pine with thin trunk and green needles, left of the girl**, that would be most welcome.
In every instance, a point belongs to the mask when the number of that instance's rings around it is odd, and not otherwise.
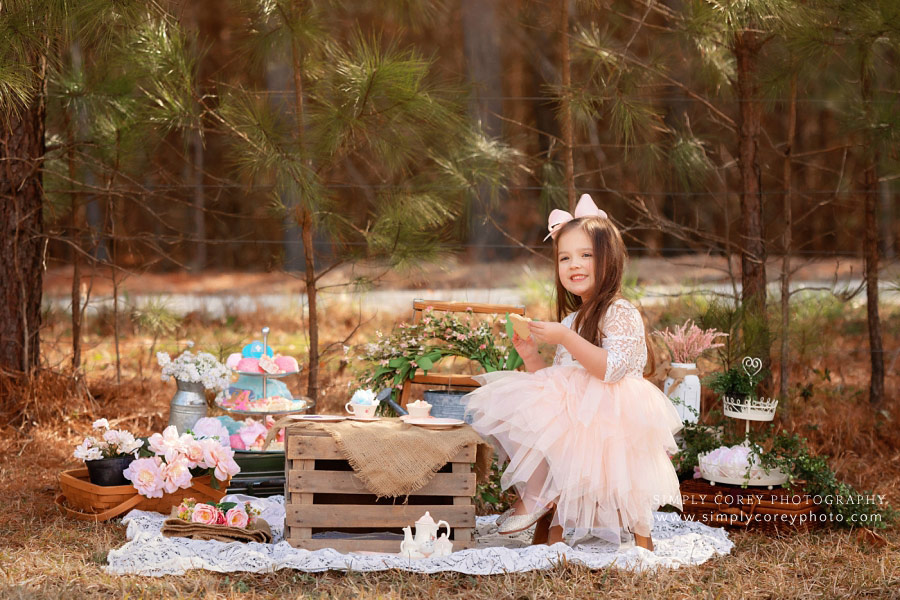
[[[415,4],[415,3],[413,3]],[[228,90],[214,114],[234,140],[245,176],[273,184],[272,202],[290,211],[303,243],[309,311],[307,395],[319,390],[318,291],[337,266],[382,261],[389,269],[431,260],[466,196],[496,194],[516,153],[466,119],[460,88],[435,81],[430,61],[376,35],[346,42],[329,34],[315,2],[249,2],[246,58],[275,53],[290,65],[293,114],[252,90]],[[271,58],[269,59],[271,60]],[[367,165],[381,185],[365,212],[349,214],[329,184],[342,165]],[[296,203],[285,205],[291,196]],[[332,242],[320,260],[316,235]]]

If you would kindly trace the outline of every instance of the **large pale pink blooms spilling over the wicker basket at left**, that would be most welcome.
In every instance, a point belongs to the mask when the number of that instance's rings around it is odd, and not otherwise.
[[[227,443],[227,438],[223,440]],[[179,435],[174,426],[154,433],[147,440],[142,457],[125,469],[125,478],[147,498],[162,498],[192,485],[195,476],[212,475],[212,487],[240,472],[234,450],[218,437],[197,438],[190,432]]]

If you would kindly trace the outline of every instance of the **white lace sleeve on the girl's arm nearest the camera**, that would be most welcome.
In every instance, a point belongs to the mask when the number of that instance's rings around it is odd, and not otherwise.
[[[601,327],[604,334],[601,347],[609,352],[603,380],[614,383],[626,375],[640,377],[647,364],[641,313],[628,301],[617,300],[606,311]]]

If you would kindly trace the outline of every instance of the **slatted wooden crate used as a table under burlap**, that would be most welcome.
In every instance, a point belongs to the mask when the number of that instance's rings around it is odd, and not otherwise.
[[[284,533],[295,548],[399,552],[400,540],[387,534],[402,534],[402,528],[412,525],[425,511],[435,521],[450,524],[454,550],[475,547],[474,444],[463,448],[428,484],[407,498],[376,499],[324,431],[289,427],[285,456]],[[360,537],[313,537],[321,532]]]

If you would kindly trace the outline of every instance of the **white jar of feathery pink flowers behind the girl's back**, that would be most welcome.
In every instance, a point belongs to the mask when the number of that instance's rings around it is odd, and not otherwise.
[[[667,366],[663,392],[675,403],[682,421],[696,423],[700,415],[700,372],[697,370],[697,359],[707,350],[721,348],[723,344],[716,343],[716,339],[728,334],[716,329],[701,329],[692,320],[675,327],[674,331],[667,327],[654,334],[662,338],[672,355],[672,362]]]

